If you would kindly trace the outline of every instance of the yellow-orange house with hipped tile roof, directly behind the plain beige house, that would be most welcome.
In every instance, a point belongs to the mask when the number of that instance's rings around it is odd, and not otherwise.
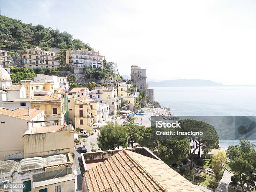
[[[55,121],[47,122],[46,125],[63,125],[64,115],[64,99],[54,95],[36,95],[31,99],[31,108],[44,110],[44,120]]]

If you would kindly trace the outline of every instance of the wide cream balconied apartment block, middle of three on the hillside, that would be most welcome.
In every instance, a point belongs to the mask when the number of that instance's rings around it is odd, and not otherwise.
[[[54,51],[44,51],[42,47],[24,49],[20,52],[20,57],[23,67],[33,69],[39,67],[57,69],[59,67],[59,61],[56,59],[57,54]]]

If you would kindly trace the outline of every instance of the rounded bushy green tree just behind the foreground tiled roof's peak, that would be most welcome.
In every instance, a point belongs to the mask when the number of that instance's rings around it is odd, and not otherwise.
[[[127,147],[128,132],[125,126],[118,125],[117,123],[108,122],[100,128],[100,133],[97,137],[99,148],[104,150],[114,150],[122,146]]]

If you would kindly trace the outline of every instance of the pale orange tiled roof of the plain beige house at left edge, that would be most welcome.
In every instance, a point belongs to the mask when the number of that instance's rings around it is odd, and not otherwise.
[[[25,120],[32,120],[38,114],[42,113],[44,110],[37,110],[37,109],[30,109],[30,116],[28,116],[28,110],[23,108],[18,108],[15,110],[0,108],[0,114],[7,115],[10,117],[25,119]]]

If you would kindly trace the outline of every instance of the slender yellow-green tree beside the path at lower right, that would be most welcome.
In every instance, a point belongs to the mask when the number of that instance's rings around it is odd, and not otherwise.
[[[218,182],[220,182],[220,179],[223,176],[224,172],[224,164],[226,161],[226,154],[223,151],[217,151],[214,154],[212,154],[212,170],[215,174],[215,184],[213,191],[215,191]]]

